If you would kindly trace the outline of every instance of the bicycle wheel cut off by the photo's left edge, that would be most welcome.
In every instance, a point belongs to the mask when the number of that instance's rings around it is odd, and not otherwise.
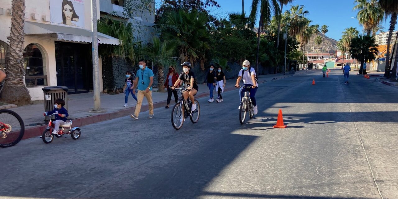
[[[25,133],[22,118],[14,111],[0,110],[0,147],[14,146],[21,141]]]

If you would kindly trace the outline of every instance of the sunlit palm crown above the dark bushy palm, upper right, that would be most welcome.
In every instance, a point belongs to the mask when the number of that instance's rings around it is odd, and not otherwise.
[[[384,10],[379,7],[377,0],[355,0],[355,3],[354,10],[359,10],[357,19],[367,35],[371,35],[371,31],[382,22]]]

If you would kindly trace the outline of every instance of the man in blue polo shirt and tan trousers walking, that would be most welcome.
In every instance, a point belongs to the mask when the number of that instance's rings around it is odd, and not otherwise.
[[[137,78],[135,78],[133,94],[135,94],[134,90],[138,85],[137,92],[137,105],[135,106],[134,115],[130,115],[130,117],[134,119],[138,119],[138,115],[140,114],[142,100],[144,100],[144,96],[146,100],[148,100],[149,105],[149,116],[148,118],[153,118],[153,103],[152,103],[152,84],[153,84],[153,72],[149,68],[146,67],[145,60],[141,59],[139,61],[140,70],[137,71]]]

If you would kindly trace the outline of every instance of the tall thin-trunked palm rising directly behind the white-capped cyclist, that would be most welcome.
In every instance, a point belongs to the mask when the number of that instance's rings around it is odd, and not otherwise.
[[[251,21],[257,20],[258,7],[260,11],[259,12],[260,18],[258,22],[258,35],[257,35],[256,71],[258,71],[258,56],[260,49],[261,30],[263,30],[270,23],[272,13],[279,16],[281,12],[277,0],[253,0],[252,11],[250,12]]]

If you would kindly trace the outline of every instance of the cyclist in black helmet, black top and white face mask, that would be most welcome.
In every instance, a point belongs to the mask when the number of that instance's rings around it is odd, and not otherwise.
[[[183,80],[185,88],[187,88],[188,91],[183,92],[182,95],[184,96],[185,100],[187,100],[188,97],[191,100],[192,102],[191,112],[192,112],[196,110],[194,95],[198,92],[199,87],[195,80],[195,74],[191,71],[191,63],[183,62],[181,66],[184,72],[181,72],[181,74],[179,74],[178,80],[176,81],[176,83],[174,83],[174,86],[172,86],[172,90],[176,89],[176,86],[179,85],[181,80]]]

